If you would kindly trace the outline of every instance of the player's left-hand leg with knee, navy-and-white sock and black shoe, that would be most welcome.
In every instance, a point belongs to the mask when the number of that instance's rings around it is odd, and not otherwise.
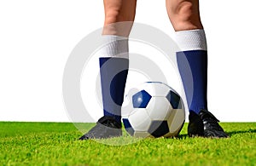
[[[122,135],[120,120],[129,66],[128,36],[136,3],[137,0],[104,0],[104,47],[99,53],[104,116],[80,140]]]

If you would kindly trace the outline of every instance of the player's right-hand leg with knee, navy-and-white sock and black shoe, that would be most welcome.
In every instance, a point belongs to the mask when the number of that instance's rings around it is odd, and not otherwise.
[[[189,106],[189,135],[227,137],[207,111],[207,40],[199,0],[166,0],[166,9],[181,49],[177,66]]]

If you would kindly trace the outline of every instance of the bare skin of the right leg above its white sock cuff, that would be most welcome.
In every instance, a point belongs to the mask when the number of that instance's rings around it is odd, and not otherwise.
[[[175,31],[202,28],[198,0],[180,0],[171,4],[166,3],[166,8]]]

